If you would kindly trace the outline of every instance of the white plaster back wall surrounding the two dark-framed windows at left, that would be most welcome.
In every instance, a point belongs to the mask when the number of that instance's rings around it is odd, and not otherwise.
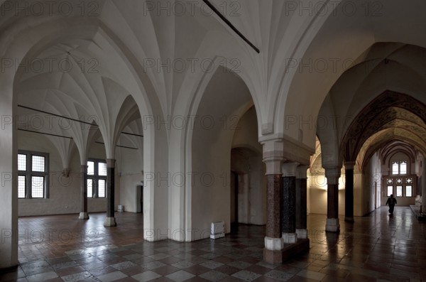
[[[70,177],[62,176],[62,161],[53,144],[41,134],[18,131],[18,148],[49,153],[50,197],[48,199],[19,199],[18,216],[62,215],[80,212],[80,157],[75,151],[70,161]],[[105,158],[103,146],[94,144],[89,149],[89,158]],[[120,181],[116,175],[115,202],[120,199]],[[88,212],[106,212],[107,199],[87,199]]]

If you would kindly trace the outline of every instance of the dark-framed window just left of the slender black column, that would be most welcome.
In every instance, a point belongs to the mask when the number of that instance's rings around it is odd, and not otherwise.
[[[90,158],[87,161],[87,197],[107,197],[107,163]]]

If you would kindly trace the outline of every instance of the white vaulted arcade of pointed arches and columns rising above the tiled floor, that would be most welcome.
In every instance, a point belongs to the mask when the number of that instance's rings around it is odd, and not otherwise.
[[[0,269],[25,216],[266,225],[269,263],[309,249],[309,214],[339,232],[393,194],[422,217],[425,1],[211,0],[239,33],[160,2],[0,0]]]

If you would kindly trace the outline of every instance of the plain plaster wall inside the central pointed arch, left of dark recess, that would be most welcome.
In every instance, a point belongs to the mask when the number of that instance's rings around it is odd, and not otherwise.
[[[224,221],[225,232],[231,230],[231,144],[235,127],[250,102],[244,82],[222,68],[202,97],[192,132],[190,212],[191,228],[197,230],[192,239],[209,237],[211,222]]]

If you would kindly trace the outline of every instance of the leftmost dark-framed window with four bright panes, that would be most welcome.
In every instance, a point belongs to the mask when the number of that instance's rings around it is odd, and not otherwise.
[[[18,198],[48,198],[49,154],[18,151]]]

